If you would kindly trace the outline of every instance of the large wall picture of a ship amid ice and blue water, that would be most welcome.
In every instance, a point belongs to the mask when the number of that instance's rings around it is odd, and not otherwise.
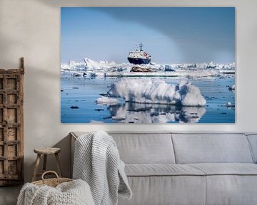
[[[234,7],[61,8],[62,123],[235,123]]]

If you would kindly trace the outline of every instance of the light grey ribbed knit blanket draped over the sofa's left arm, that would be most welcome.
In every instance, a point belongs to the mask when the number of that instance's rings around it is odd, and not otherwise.
[[[76,140],[73,178],[89,183],[96,205],[118,204],[118,193],[131,199],[124,166],[116,142],[106,132],[90,132]]]

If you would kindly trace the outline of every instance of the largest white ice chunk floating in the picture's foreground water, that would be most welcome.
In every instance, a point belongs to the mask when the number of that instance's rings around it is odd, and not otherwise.
[[[204,106],[206,100],[195,85],[183,80],[170,85],[164,80],[122,78],[111,85],[108,95],[124,98],[127,102]]]

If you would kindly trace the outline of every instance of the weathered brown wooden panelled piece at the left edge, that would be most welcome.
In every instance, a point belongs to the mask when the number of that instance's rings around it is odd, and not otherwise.
[[[24,182],[24,58],[0,69],[0,186]]]

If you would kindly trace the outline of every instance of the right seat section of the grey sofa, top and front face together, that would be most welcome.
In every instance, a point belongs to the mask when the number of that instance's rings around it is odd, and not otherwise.
[[[207,174],[206,205],[256,204],[257,164],[188,164]]]

